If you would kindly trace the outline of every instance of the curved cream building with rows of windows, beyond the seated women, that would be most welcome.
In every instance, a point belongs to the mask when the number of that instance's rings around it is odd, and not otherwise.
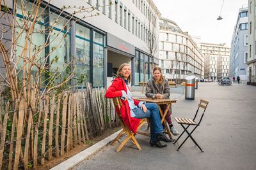
[[[159,19],[159,66],[168,80],[204,76],[204,57],[200,49],[188,32],[183,32],[167,18]]]

